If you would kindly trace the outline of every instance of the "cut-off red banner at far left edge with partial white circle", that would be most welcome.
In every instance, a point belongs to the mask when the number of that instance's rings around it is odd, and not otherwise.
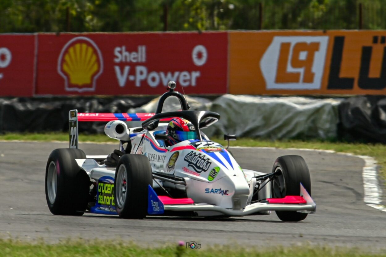
[[[36,35],[0,35],[0,96],[32,96]]]

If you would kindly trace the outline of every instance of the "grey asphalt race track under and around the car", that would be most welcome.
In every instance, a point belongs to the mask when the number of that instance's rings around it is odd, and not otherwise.
[[[89,155],[108,154],[114,146],[80,144]],[[66,147],[67,143],[0,142],[0,237],[43,238],[47,242],[69,237],[122,238],[141,245],[194,240],[202,248],[214,243],[386,248],[386,212],[364,204],[364,161],[358,157],[302,150],[232,149],[241,167],[263,172],[270,171],[280,155],[305,158],[317,213],[302,222],[281,222],[274,213],[225,219],[123,220],[90,213],[80,217],[54,216],[49,212],[44,194],[47,157],[54,148]]]

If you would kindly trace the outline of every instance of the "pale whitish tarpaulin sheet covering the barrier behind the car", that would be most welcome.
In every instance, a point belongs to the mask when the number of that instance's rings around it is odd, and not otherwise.
[[[157,99],[131,109],[131,112],[154,112]],[[224,133],[243,137],[335,138],[338,105],[341,99],[305,97],[259,97],[222,95],[213,101],[188,97],[192,110],[218,112],[220,121],[203,129],[208,135]],[[165,102],[163,111],[178,110],[178,100]]]

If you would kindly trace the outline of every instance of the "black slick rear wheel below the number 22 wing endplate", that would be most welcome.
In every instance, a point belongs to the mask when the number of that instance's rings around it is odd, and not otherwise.
[[[80,149],[61,148],[51,152],[46,166],[46,200],[55,215],[85,213],[90,194],[90,178],[75,159],[85,159]]]

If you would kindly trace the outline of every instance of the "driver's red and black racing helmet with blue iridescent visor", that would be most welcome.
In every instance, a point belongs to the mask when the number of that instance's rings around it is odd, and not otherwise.
[[[180,117],[175,117],[169,121],[166,127],[166,134],[168,135],[168,144],[175,145],[184,140],[198,139],[194,125]]]

